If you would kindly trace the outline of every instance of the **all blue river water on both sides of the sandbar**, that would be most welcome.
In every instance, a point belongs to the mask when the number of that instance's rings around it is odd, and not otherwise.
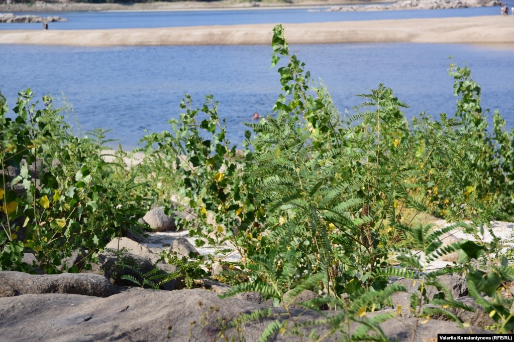
[[[377,12],[309,12],[308,9],[223,10],[181,12],[48,13],[68,22],[50,23],[50,29],[102,29],[244,23],[302,23],[412,17],[497,15],[499,8]],[[497,13],[498,12],[498,13]],[[38,15],[47,15],[40,13]],[[514,20],[514,18],[502,18]],[[16,26],[21,25],[21,26]],[[0,29],[25,29],[0,24]],[[37,29],[39,29],[38,24]],[[422,111],[437,117],[452,114],[456,98],[449,63],[469,66],[482,86],[484,108],[498,109],[514,128],[514,50],[457,44],[320,44],[293,45],[315,80],[321,79],[344,112],[361,103],[356,94],[380,83],[394,90],[411,107],[411,117]],[[144,130],[171,130],[185,94],[200,107],[205,95],[219,101],[218,112],[227,120],[228,137],[241,144],[242,124],[254,112],[271,114],[280,93],[279,75],[270,68],[271,47],[158,46],[57,47],[0,45],[0,90],[10,107],[16,92],[31,88],[36,97],[52,94],[56,105],[71,104],[71,120],[82,130],[113,129],[124,149],[137,146]],[[453,59],[449,59],[453,56]],[[116,146],[111,143],[109,146]]]

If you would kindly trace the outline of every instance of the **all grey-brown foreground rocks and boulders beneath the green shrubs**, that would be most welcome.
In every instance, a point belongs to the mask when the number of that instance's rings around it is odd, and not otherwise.
[[[188,212],[176,212],[176,215],[192,219]],[[162,208],[155,208],[146,213],[141,223],[152,227],[156,232],[176,232],[174,217],[166,216]],[[511,231],[510,225],[495,223],[493,230]],[[186,232],[184,232],[186,233]],[[175,265],[159,262],[160,254],[177,253],[191,257],[198,251],[187,238],[175,236],[172,240],[158,240],[130,233],[123,238],[116,238],[107,245],[106,251],[99,257],[99,263],[91,271],[81,274],[26,274],[12,271],[0,272],[0,335],[8,341],[48,340],[258,340],[262,332],[273,321],[279,320],[289,326],[312,322],[298,331],[308,335],[316,328],[318,334],[324,335],[331,329],[321,324],[327,311],[305,310],[295,302],[313,299],[318,294],[312,291],[301,292],[296,298],[289,298],[288,310],[283,306],[272,307],[269,300],[264,300],[258,293],[250,292],[221,299],[229,286],[211,279],[195,280],[196,289],[185,289],[183,277],[168,281],[161,286],[161,291],[134,287],[134,283],[116,283],[113,271],[118,276],[137,277],[133,268],[116,267],[120,260],[116,250],[126,252],[121,256],[122,265],[133,265],[142,273],[149,272],[157,266],[162,272],[174,272]],[[129,238],[130,236],[130,238]],[[187,233],[185,234],[187,236]],[[453,242],[453,240],[452,240]],[[150,247],[149,245],[153,245]],[[148,247],[147,247],[148,246]],[[73,258],[63,260],[62,264],[80,263],[82,250]],[[30,263],[31,255],[26,255]],[[35,260],[34,260],[35,261]],[[34,265],[36,266],[36,265]],[[213,274],[219,272],[217,268]],[[409,310],[409,300],[413,294],[418,295],[418,286],[412,279],[397,279],[407,291],[392,296],[391,306],[375,312],[368,312],[359,318],[365,321],[377,314],[390,314],[391,318],[380,326],[389,340],[425,342],[437,340],[438,333],[454,334],[489,334],[484,328],[494,324],[488,313],[469,296],[465,279],[459,274],[439,277],[441,283],[451,291],[452,296],[461,304],[473,308],[466,311],[460,308],[449,309],[452,314],[468,328],[459,328],[456,323],[447,321],[443,315],[433,315],[432,319],[419,324],[415,313]],[[168,291],[167,291],[168,290]],[[426,288],[426,296],[432,298],[438,290]],[[287,296],[287,294],[285,295]],[[430,306],[430,305],[429,305]],[[319,308],[326,310],[326,308]],[[270,310],[270,311],[268,311]],[[241,315],[255,312],[267,312],[259,319],[242,319]],[[287,313],[287,314],[286,314]],[[332,315],[333,313],[329,313]],[[237,319],[239,319],[237,321]],[[235,320],[234,325],[227,324]],[[238,323],[237,323],[238,322]],[[348,323],[347,328],[355,331],[359,323]],[[37,327],[37,328],[34,328]],[[334,338],[344,337],[341,331]],[[298,341],[299,337],[287,330],[283,334],[274,333],[274,341]]]

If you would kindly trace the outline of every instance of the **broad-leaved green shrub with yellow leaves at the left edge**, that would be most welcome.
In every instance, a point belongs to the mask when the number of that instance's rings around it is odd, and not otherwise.
[[[140,213],[142,198],[131,192],[134,177],[103,160],[102,130],[76,137],[51,98],[36,109],[30,89],[19,95],[14,119],[6,104],[0,109],[0,269],[29,270],[22,263],[29,252],[45,272],[60,272],[66,270],[62,259],[80,248],[81,267],[89,267]]]

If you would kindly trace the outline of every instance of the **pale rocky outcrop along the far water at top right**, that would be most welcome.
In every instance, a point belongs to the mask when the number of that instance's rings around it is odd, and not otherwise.
[[[433,10],[470,7],[501,6],[497,0],[404,0],[389,5],[333,6],[327,11],[391,11],[391,10]]]

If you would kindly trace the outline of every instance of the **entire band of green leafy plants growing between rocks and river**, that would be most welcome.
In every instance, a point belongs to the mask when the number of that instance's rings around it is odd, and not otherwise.
[[[182,224],[199,245],[229,242],[242,257],[195,261],[209,269],[229,264],[217,276],[232,285],[226,296],[258,291],[287,307],[291,296],[316,290],[322,297],[306,307],[343,309],[326,324],[344,330],[343,323],[359,321],[363,328],[348,339],[384,339],[378,323],[390,316],[364,313],[405,291],[390,285],[390,277],[418,279],[411,310],[419,317],[457,319],[444,308],[463,305],[437,280],[456,272],[466,275],[470,294],[498,321],[498,331],[512,330],[512,296],[499,293],[514,280],[511,256],[499,253],[500,239],[485,243],[482,236],[491,220],[514,214],[514,132],[505,130],[498,112],[490,127],[469,69],[450,64],[458,97],[453,116],[421,113],[409,122],[401,112],[407,105],[382,84],[359,95],[362,105],[344,116],[289,54],[281,26],[274,28],[272,49],[283,92],[273,115],[247,124],[240,150],[226,139],[212,96],[199,109],[186,97],[180,118],[169,122],[172,131],[146,135],[145,159],[129,170],[122,157],[130,155],[121,148],[114,162],[102,158],[102,130],[72,134],[51,98],[36,109],[30,91],[21,92],[14,118],[0,98],[0,269],[30,270],[22,261],[29,252],[47,273],[78,272],[63,268],[62,259],[83,248],[87,269],[152,206],[187,207],[197,219]],[[454,224],[435,230],[419,219],[427,213]],[[443,246],[439,237],[453,229],[476,241]],[[460,253],[458,265],[424,272],[452,252]],[[424,297],[428,285],[439,295]],[[440,308],[422,308],[428,301]],[[263,340],[281,329],[278,321],[270,325]]]

